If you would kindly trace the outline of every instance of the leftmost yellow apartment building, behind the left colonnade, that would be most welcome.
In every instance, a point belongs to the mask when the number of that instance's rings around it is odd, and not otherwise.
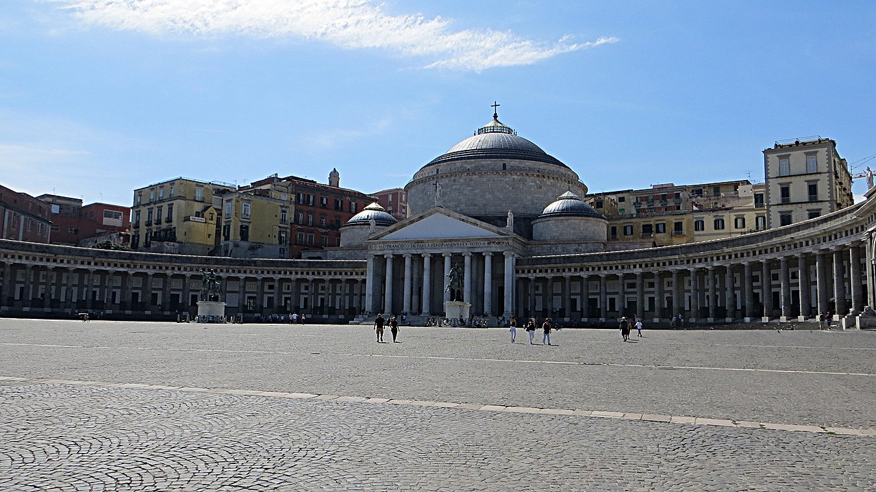
[[[223,193],[235,186],[175,178],[134,190],[131,249],[206,255],[219,245]]]

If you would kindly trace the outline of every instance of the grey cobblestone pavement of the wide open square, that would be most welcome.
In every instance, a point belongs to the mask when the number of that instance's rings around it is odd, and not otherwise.
[[[876,333],[401,335],[0,320],[0,376],[876,426]],[[0,381],[0,490],[876,487],[871,436],[375,402]]]

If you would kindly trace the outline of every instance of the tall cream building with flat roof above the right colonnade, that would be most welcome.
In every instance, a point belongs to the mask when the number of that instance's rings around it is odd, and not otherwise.
[[[851,207],[851,172],[830,138],[776,142],[764,150],[767,227],[781,227]]]

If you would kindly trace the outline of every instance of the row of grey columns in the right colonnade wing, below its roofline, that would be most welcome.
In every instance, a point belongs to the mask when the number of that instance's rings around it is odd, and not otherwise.
[[[702,321],[807,320],[826,313],[838,320],[872,302],[868,257],[865,242],[856,241],[741,263],[530,274],[519,278],[518,312],[566,320],[665,321],[678,314]]]

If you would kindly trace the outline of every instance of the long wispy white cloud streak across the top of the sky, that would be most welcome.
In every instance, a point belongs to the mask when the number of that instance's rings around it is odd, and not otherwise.
[[[480,71],[530,65],[561,53],[617,41],[526,39],[512,32],[453,30],[449,19],[394,16],[372,0],[48,0],[81,20],[159,34],[244,33],[321,39],[349,49],[383,49],[421,57],[427,67]]]

